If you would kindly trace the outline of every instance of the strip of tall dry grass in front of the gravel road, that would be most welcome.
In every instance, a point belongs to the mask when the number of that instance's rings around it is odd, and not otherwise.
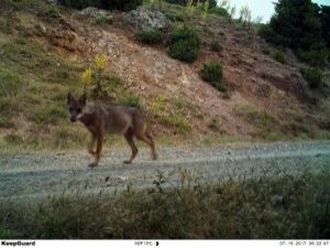
[[[284,175],[201,185],[188,172],[178,186],[158,175],[142,192],[0,202],[2,238],[263,238],[330,235],[330,174]],[[202,225],[201,225],[202,224]]]

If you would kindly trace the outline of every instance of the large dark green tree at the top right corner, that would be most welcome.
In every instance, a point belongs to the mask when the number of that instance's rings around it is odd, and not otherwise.
[[[311,66],[322,67],[329,57],[330,11],[311,0],[279,0],[276,14],[261,35],[274,45],[293,48]]]

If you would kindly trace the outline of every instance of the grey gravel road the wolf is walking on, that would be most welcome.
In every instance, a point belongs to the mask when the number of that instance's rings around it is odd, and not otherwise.
[[[87,166],[87,152],[0,152],[0,198],[43,197],[53,194],[106,193],[128,186],[143,188],[185,183],[217,183],[227,180],[283,174],[330,172],[330,141],[245,144],[200,148],[161,148],[152,161],[142,149],[133,164],[122,161],[129,148],[107,150],[98,168]]]

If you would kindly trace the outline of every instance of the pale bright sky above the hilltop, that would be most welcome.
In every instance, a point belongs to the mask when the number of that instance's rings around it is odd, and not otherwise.
[[[221,0],[218,0],[220,2]],[[274,10],[273,2],[277,2],[277,0],[230,0],[231,6],[237,6],[237,12],[243,6],[248,6],[252,12],[252,20],[256,17],[262,17],[264,23],[268,22]],[[314,0],[318,4],[330,6],[330,0]]]

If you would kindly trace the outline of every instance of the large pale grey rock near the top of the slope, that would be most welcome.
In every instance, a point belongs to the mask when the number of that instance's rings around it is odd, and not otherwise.
[[[141,31],[151,31],[154,29],[168,30],[172,22],[164,13],[157,10],[148,10],[144,7],[139,7],[123,14],[124,21],[135,29]]]

